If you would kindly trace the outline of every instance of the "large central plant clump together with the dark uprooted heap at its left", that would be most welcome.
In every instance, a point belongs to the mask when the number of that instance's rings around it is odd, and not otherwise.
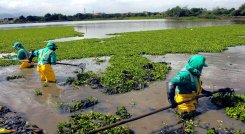
[[[135,55],[113,56],[110,63],[111,66],[102,74],[79,72],[77,78],[70,77],[66,83],[90,85],[92,88],[103,88],[107,94],[118,94],[146,88],[149,82],[164,79],[170,70],[166,63],[152,63]]]

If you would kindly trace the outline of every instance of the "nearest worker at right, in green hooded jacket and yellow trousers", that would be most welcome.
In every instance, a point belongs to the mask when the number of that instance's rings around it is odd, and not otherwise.
[[[190,57],[187,64],[182,68],[177,75],[168,83],[168,100],[172,108],[176,108],[179,112],[192,112],[196,110],[198,100],[183,103],[177,106],[177,103],[194,98],[200,93],[207,96],[212,95],[212,92],[202,88],[200,76],[203,67],[208,65],[205,62],[206,58],[203,55],[194,55]]]

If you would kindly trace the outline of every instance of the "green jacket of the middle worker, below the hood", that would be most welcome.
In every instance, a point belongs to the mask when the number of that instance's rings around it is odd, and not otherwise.
[[[56,53],[48,47],[33,52],[38,57],[38,65],[56,64]]]

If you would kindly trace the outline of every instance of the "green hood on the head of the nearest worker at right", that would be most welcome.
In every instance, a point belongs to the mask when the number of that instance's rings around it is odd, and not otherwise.
[[[190,71],[192,74],[200,76],[202,73],[203,67],[207,67],[208,65],[205,63],[206,58],[203,55],[194,55],[185,65],[186,70]]]

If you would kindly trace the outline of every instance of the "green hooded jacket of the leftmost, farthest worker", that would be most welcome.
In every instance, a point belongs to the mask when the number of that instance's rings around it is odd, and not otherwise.
[[[28,59],[30,54],[20,42],[15,42],[13,48],[18,49],[17,58],[19,60]]]

